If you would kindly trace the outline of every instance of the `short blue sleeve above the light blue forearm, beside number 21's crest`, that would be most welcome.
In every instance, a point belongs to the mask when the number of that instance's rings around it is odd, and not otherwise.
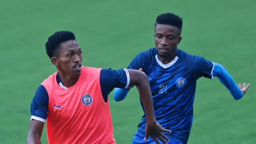
[[[199,77],[204,76],[206,78],[213,79],[212,71],[214,69],[214,64],[200,56],[194,56],[194,60],[196,62],[196,69]]]

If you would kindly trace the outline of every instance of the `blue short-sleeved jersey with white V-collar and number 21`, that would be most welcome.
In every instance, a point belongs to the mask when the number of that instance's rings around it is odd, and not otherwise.
[[[158,59],[157,49],[152,48],[139,53],[127,68],[142,68],[148,75],[157,122],[172,131],[171,137],[186,143],[193,120],[196,81],[202,76],[212,79],[214,64],[180,49],[173,61],[163,64]],[[144,110],[142,102],[141,105]],[[144,135],[145,126],[144,115],[138,132]]]

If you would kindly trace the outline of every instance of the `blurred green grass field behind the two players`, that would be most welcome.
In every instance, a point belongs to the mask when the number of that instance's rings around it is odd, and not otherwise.
[[[161,13],[183,18],[179,48],[224,65],[237,83],[251,83],[236,101],[217,78],[198,80],[189,144],[256,143],[256,1],[1,1],[0,143],[26,143],[36,88],[56,71],[45,51],[55,31],[70,30],[82,64],[125,68],[154,47]],[[136,89],[121,102],[109,95],[117,144],[129,144],[143,114]],[[47,143],[46,131],[42,143]]]

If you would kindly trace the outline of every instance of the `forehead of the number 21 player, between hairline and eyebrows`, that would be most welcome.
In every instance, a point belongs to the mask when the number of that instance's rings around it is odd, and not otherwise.
[[[179,35],[180,30],[175,27],[175,26],[171,26],[171,25],[163,25],[163,24],[158,24],[155,27],[155,34],[161,34],[161,35],[169,35],[169,34],[173,34],[173,35]]]

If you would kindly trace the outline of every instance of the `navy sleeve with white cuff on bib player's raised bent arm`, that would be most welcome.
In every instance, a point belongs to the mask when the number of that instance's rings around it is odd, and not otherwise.
[[[130,83],[130,75],[126,69],[101,69],[100,87],[103,99],[108,100],[109,93],[115,88],[126,88]]]

